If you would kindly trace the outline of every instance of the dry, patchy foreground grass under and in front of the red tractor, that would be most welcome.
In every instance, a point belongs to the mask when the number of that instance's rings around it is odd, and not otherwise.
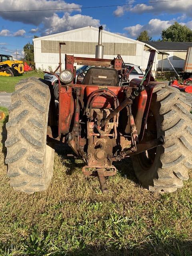
[[[7,113],[7,112],[6,112]],[[7,119],[6,119],[7,120]],[[6,121],[5,121],[6,122]],[[191,256],[192,180],[173,194],[138,185],[130,161],[116,164],[102,195],[97,178],[85,177],[82,160],[55,153],[47,191],[15,192],[0,154],[1,256]]]

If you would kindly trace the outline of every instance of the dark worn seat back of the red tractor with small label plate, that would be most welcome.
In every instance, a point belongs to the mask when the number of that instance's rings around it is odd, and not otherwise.
[[[118,86],[118,82],[116,69],[92,67],[87,71],[82,84]]]

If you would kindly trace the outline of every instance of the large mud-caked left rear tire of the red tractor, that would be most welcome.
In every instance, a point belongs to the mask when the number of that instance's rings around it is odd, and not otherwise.
[[[5,162],[15,190],[31,194],[50,184],[54,149],[46,144],[49,104],[49,87],[34,77],[19,82],[12,94]]]

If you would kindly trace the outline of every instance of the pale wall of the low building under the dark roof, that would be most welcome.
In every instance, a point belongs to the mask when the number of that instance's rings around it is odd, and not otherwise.
[[[187,51],[164,51],[169,54],[169,59],[174,68],[183,69]],[[161,70],[162,54],[158,54],[158,70]],[[163,70],[172,70],[172,66],[167,60],[167,56],[163,55]]]

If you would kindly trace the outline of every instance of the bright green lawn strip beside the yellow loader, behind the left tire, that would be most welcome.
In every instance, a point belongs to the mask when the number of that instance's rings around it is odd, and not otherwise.
[[[36,76],[39,78],[43,78],[44,73],[30,71],[26,72],[20,76],[0,76],[0,92],[14,92],[15,85],[22,79],[28,78],[30,76]]]

